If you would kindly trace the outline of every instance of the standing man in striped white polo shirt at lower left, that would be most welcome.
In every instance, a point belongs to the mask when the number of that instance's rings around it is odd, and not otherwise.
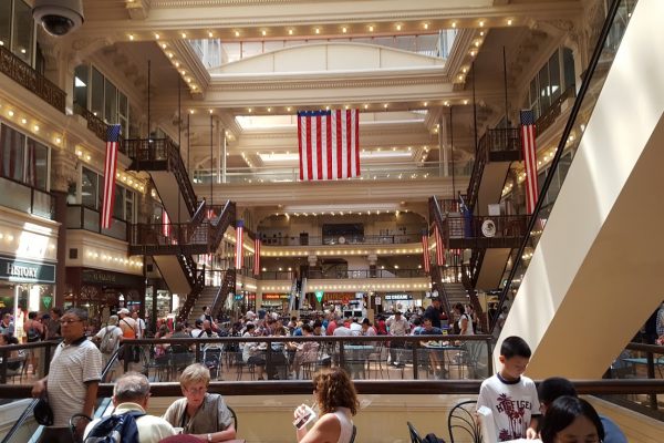
[[[40,437],[44,443],[71,443],[69,419],[77,413],[93,415],[102,378],[102,353],[85,337],[87,311],[72,308],[60,323],[63,341],[55,348],[49,375],[32,387],[32,396],[46,394],[53,410],[53,426],[44,427]],[[86,424],[79,422],[79,435],[83,435]]]

